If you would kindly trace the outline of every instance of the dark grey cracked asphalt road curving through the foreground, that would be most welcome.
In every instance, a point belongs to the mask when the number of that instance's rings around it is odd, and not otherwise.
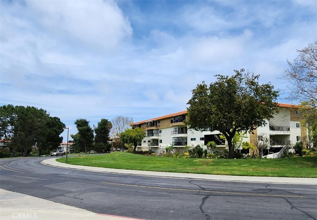
[[[96,213],[163,219],[317,219],[316,186],[219,182],[0,161],[0,188]]]

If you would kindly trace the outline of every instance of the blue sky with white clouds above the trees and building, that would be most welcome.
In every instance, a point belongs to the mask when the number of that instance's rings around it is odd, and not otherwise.
[[[2,0],[0,13],[0,104],[43,108],[69,134],[78,118],[184,111],[197,83],[241,68],[289,103],[279,77],[317,39],[315,0]]]

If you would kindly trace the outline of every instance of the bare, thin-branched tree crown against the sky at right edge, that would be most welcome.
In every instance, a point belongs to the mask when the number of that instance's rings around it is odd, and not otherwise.
[[[282,79],[289,82],[288,99],[308,102],[312,108],[317,107],[317,40],[308,44],[293,62],[287,61],[289,68],[284,71]]]

